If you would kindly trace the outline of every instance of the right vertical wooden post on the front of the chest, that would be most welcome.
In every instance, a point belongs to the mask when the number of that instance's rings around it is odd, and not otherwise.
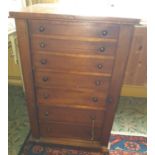
[[[121,83],[123,81],[125,67],[130,51],[132,33],[133,26],[121,25],[116,60],[114,64],[115,68],[113,70],[111,86],[108,95],[112,99],[112,102],[106,104],[105,111],[105,123],[103,127],[103,145],[105,146],[108,146],[110,131],[120,96]]]

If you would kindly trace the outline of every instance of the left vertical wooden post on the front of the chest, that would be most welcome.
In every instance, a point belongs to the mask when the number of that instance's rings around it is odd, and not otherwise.
[[[31,65],[31,53],[29,44],[29,35],[27,21],[24,19],[16,19],[17,39],[20,51],[20,59],[22,65],[25,95],[27,100],[27,107],[29,111],[29,120],[34,137],[39,137],[38,116],[36,109],[34,81]]]

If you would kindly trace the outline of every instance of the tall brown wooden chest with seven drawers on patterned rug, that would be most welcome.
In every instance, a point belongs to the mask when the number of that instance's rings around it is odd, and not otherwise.
[[[16,19],[32,137],[107,152],[139,20],[64,15],[42,5],[10,16]]]

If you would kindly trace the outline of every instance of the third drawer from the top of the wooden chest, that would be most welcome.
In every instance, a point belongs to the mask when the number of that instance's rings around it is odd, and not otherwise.
[[[65,55],[52,55],[39,53],[34,55],[36,68],[52,69],[55,71],[112,73],[113,62],[111,59],[75,57]]]

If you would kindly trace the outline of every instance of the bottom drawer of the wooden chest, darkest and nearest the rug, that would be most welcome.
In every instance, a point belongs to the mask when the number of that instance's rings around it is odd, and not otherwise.
[[[75,138],[99,141],[101,131],[101,127],[96,127],[95,122],[92,122],[92,126],[57,122],[43,123],[40,126],[40,134],[42,137],[53,138]]]

